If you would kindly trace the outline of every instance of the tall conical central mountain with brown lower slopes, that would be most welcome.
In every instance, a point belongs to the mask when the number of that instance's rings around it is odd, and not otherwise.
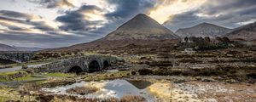
[[[161,46],[171,47],[172,43],[178,42],[179,37],[157,21],[145,14],[137,14],[134,18],[119,26],[115,31],[109,33],[93,42],[76,44],[64,48],[50,48],[44,51],[77,51],[96,49],[119,49]]]

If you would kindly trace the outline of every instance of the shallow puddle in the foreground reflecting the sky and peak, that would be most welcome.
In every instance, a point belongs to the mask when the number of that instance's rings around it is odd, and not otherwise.
[[[132,83],[135,83],[134,85]],[[137,88],[139,84],[143,84],[143,87]],[[110,97],[121,99],[125,95],[140,95],[147,99],[148,102],[156,101],[153,94],[149,94],[148,88],[146,85],[149,85],[149,82],[132,82],[121,79],[111,80],[111,81],[101,81],[101,82],[76,82],[72,85],[66,85],[56,88],[42,88],[43,91],[51,92],[52,94],[67,94],[78,96],[79,98],[88,98],[88,99],[107,99]],[[100,88],[99,91],[93,94],[68,94],[66,91],[70,88],[90,86]]]

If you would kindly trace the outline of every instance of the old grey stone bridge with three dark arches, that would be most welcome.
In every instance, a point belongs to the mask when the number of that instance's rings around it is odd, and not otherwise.
[[[53,63],[41,66],[40,71],[48,72],[95,72],[102,71],[121,59],[109,55],[85,55],[69,59],[60,59]]]

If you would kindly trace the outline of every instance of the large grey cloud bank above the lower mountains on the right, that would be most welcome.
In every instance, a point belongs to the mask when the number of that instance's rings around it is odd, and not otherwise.
[[[212,0],[203,4],[200,8],[176,14],[164,25],[172,31],[178,28],[195,26],[202,22],[208,22],[219,26],[235,28],[239,22],[256,20],[256,1],[255,0]],[[206,16],[200,16],[204,14]]]

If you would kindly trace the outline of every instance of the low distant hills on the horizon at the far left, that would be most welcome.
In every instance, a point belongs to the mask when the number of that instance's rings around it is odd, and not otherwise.
[[[15,47],[0,43],[0,51],[38,51],[44,48]]]

